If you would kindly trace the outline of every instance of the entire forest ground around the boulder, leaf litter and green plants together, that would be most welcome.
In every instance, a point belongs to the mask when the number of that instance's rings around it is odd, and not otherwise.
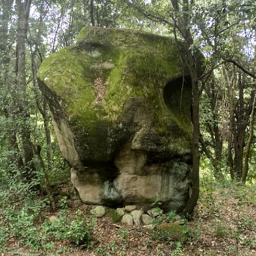
[[[72,186],[55,187],[57,210],[44,193],[30,191],[18,176],[0,197],[0,252],[5,255],[255,255],[256,185],[201,177],[192,218],[182,225],[156,220],[154,229],[113,223],[111,208],[94,218],[92,206],[71,198]]]

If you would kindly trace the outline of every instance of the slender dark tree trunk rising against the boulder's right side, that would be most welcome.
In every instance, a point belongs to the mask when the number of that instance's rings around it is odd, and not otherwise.
[[[178,49],[180,51],[180,57],[184,68],[189,71],[191,84],[192,84],[192,123],[193,123],[193,139],[192,139],[192,194],[187,206],[184,209],[185,214],[191,214],[196,202],[199,198],[199,166],[200,166],[200,151],[199,151],[199,139],[200,139],[200,123],[199,123],[199,103],[202,88],[210,77],[213,68],[207,70],[205,74],[202,74],[202,55],[197,45],[194,44],[193,31],[191,30],[191,18],[193,1],[188,0],[171,1],[172,6],[170,8],[170,18],[166,19],[158,13],[152,13],[150,10],[145,9],[146,6],[139,6],[133,4],[130,1],[124,0],[127,5],[137,9],[143,15],[155,22],[162,22],[171,27],[174,33],[174,37],[177,42]],[[141,3],[142,4],[142,3]],[[180,43],[180,40],[183,43]]]

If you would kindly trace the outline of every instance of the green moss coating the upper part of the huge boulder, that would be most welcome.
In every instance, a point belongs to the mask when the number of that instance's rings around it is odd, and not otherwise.
[[[156,125],[148,123],[148,126],[155,134],[169,139],[165,144],[170,147],[176,144],[176,151],[189,149],[188,140],[184,143],[171,134],[166,136],[167,122],[171,122],[165,117],[170,116],[170,111],[160,106],[165,105],[162,91],[166,83],[181,76],[181,68],[171,38],[133,30],[85,27],[75,45],[43,61],[38,79],[59,99],[71,129],[76,131],[78,152],[88,152],[82,160],[92,153],[100,155],[102,149],[105,153],[96,159],[108,161],[117,150],[115,141],[129,137],[133,121],[125,124],[122,120],[127,100],[131,98],[143,100],[146,108],[153,106]],[[178,130],[189,137],[191,126],[187,125],[187,115],[179,113],[185,117],[183,121],[175,114],[172,119],[179,124]],[[83,136],[86,133],[88,138]]]

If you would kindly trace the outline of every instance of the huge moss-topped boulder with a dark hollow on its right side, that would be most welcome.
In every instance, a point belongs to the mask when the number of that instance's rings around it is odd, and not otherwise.
[[[185,74],[183,79],[183,74]],[[183,210],[191,186],[191,83],[176,42],[83,28],[38,72],[85,203]]]

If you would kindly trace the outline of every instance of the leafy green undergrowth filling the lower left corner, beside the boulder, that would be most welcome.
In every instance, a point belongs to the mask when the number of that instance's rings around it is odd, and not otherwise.
[[[6,247],[10,236],[16,237],[22,245],[29,246],[33,251],[53,250],[52,238],[55,241],[69,240],[75,245],[83,243],[87,248],[91,246],[91,233],[96,226],[96,219],[90,220],[81,211],[68,216],[68,200],[64,196],[61,199],[63,210],[57,214],[58,219],[51,223],[45,216],[49,212],[49,200],[30,190],[38,180],[32,184],[26,183],[20,179],[17,170],[11,173],[1,172],[1,247]]]

